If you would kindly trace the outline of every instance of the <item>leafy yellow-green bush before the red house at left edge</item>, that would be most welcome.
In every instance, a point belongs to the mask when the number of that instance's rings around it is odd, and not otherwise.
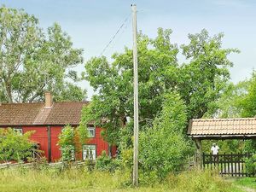
[[[11,128],[0,129],[0,161],[25,160],[32,156],[33,143],[29,140],[33,131],[20,135]]]

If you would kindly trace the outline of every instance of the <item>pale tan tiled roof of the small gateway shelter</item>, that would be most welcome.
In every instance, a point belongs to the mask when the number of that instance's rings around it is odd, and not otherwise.
[[[192,119],[188,135],[192,137],[256,136],[256,118]]]

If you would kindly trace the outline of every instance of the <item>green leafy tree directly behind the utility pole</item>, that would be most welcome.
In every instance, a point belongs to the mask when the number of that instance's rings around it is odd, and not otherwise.
[[[172,31],[158,30],[157,38],[142,33],[138,36],[139,110],[140,124],[145,125],[160,111],[162,94],[172,88],[177,71],[177,46],[171,44]],[[151,47],[151,49],[149,48]],[[118,131],[127,117],[133,117],[132,50],[114,54],[113,63],[106,57],[92,58],[85,64],[85,79],[98,93],[93,96],[90,108],[84,108],[84,124],[91,119],[106,128],[105,137],[110,143],[119,140]],[[166,79],[165,73],[173,78]],[[102,123],[101,119],[108,119]]]

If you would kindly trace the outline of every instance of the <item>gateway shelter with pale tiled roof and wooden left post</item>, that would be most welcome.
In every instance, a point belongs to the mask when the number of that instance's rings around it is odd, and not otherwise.
[[[195,141],[196,166],[201,167],[201,140],[256,139],[256,118],[191,119],[188,135]]]

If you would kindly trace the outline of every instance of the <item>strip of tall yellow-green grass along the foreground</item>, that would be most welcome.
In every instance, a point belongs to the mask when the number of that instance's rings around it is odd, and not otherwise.
[[[66,171],[59,169],[0,170],[1,192],[30,191],[243,191],[235,183],[225,181],[212,172],[183,172],[179,175],[169,175],[162,182],[144,179],[138,189],[131,187],[128,172],[88,172],[85,168],[74,168]],[[143,176],[141,176],[143,177]]]

